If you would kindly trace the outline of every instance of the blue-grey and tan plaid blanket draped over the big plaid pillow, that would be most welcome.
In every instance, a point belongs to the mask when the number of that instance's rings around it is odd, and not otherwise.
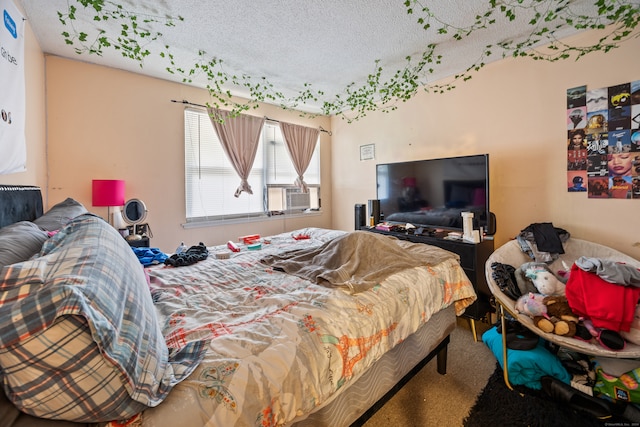
[[[72,220],[44,244],[39,256],[3,272],[0,352],[16,350],[64,316],[82,316],[104,358],[122,375],[131,399],[156,406],[193,371],[206,350],[203,341],[167,348],[142,266],[115,229],[96,216]],[[16,355],[24,369],[39,357],[24,348],[12,351],[11,356]],[[64,374],[38,378],[38,387],[14,384],[8,394],[24,401],[37,400],[32,395],[37,390],[64,393]],[[72,377],[73,372],[66,374]],[[5,388],[9,380],[5,378]]]

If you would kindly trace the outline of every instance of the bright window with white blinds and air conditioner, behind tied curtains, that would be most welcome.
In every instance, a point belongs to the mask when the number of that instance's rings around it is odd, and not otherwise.
[[[187,222],[265,218],[320,208],[320,144],[304,180],[309,193],[293,184],[297,177],[280,126],[265,122],[249,176],[253,194],[235,197],[240,185],[206,111],[186,109],[185,192]]]

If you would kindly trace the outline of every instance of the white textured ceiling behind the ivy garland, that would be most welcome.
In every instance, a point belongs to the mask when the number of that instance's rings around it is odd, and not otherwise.
[[[405,65],[407,56],[419,55],[429,43],[438,43],[438,53],[443,59],[428,76],[428,82],[434,82],[473,64],[485,45],[531,31],[524,24],[530,16],[521,12],[513,22],[496,15],[498,22],[490,29],[474,32],[462,41],[451,40],[450,34],[437,33],[439,26],[435,22],[431,30],[425,31],[417,23],[418,15],[407,13],[404,0],[122,0],[119,3],[139,16],[184,17],[173,28],[158,28],[163,33],[162,39],[149,46],[153,53],[141,68],[118,52],[78,55],[72,46],[65,44],[61,33],[69,28],[59,22],[57,12],[66,12],[68,4],[76,2],[15,1],[24,10],[45,53],[180,81],[181,77],[165,71],[168,63],[158,55],[167,44],[177,63],[186,68],[197,60],[197,52],[203,50],[222,59],[229,73],[265,77],[275,89],[290,96],[303,90],[305,84],[311,84],[314,89],[324,91],[328,99],[343,93],[352,82],[365,81],[374,71],[376,60],[388,76]],[[477,14],[487,10],[488,0],[438,0],[424,4],[440,20],[468,26]],[[96,28],[91,20],[93,14],[79,3],[76,6],[79,7],[76,29]],[[117,34],[119,27],[115,24],[100,23],[100,28]],[[486,62],[500,58],[501,52],[496,51]],[[206,80],[196,77],[192,84],[205,87]],[[230,89],[246,95],[238,88]],[[303,109],[316,108],[309,103]]]

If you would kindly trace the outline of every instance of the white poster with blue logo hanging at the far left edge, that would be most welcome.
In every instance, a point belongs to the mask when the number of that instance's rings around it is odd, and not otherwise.
[[[26,170],[24,19],[11,0],[0,0],[0,174]]]

